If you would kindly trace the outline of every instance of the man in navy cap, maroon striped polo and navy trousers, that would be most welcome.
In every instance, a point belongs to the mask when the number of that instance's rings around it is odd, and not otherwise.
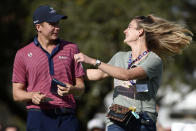
[[[58,38],[59,21],[66,18],[50,6],[39,6],[33,15],[37,36],[16,53],[13,98],[27,102],[27,131],[79,130],[74,96],[84,92],[85,73],[74,60],[77,45]]]

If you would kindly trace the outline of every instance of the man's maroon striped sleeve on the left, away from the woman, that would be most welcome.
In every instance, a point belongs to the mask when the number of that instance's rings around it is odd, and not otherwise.
[[[20,52],[16,53],[13,66],[12,82],[26,83],[26,66]]]

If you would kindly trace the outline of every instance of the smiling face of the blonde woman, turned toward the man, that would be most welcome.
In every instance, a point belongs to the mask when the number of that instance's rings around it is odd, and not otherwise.
[[[129,43],[129,42],[134,42],[139,38],[139,30],[137,29],[137,21],[136,20],[132,20],[128,27],[125,29],[124,34],[125,34],[125,39],[124,42],[125,43]]]

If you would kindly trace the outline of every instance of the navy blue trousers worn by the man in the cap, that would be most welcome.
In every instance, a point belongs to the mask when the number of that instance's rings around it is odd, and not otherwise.
[[[27,131],[79,131],[79,122],[75,114],[55,115],[29,110]]]

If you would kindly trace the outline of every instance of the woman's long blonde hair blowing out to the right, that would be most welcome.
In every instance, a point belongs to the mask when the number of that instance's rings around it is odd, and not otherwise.
[[[185,26],[148,15],[136,16],[138,28],[143,28],[148,49],[162,58],[181,54],[192,41],[193,33]]]

